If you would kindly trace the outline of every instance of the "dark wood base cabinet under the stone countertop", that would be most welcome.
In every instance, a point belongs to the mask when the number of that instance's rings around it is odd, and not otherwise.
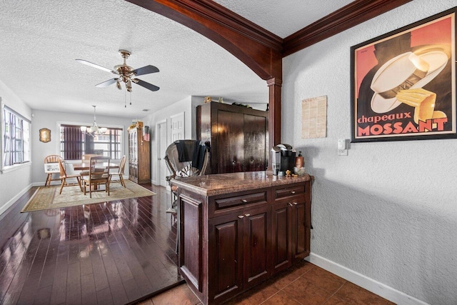
[[[204,304],[220,304],[309,255],[311,181],[202,193],[202,185],[216,186],[212,176],[230,185],[229,175],[192,177],[198,191],[176,184],[179,271]]]

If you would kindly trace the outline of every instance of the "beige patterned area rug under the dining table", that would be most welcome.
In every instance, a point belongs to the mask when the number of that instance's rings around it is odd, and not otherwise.
[[[111,184],[109,196],[105,191],[96,191],[89,198],[89,191],[86,195],[79,189],[79,186],[65,186],[62,194],[59,194],[60,186],[41,186],[34,196],[27,202],[21,212],[41,211],[47,209],[59,209],[66,206],[80,206],[81,204],[97,204],[104,201],[137,198],[156,195],[153,191],[145,189],[129,180],[125,181],[126,187],[120,183]]]

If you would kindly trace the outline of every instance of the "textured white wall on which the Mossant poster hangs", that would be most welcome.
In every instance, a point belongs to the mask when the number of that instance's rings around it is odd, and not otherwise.
[[[337,156],[351,138],[350,48],[455,5],[411,1],[283,59],[281,139],[316,176],[311,252],[401,304],[457,304],[457,139],[356,143]],[[301,101],[323,95],[327,137],[301,139]]]

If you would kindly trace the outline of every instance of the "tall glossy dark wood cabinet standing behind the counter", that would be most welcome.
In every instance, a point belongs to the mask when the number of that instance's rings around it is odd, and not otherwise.
[[[216,102],[198,106],[197,138],[211,147],[211,174],[268,166],[268,111]]]

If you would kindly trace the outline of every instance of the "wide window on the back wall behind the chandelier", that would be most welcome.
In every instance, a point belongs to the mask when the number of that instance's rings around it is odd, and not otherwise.
[[[105,134],[83,134],[80,126],[61,124],[60,154],[65,160],[81,160],[84,154],[100,154],[121,159],[122,129],[108,128]]]

